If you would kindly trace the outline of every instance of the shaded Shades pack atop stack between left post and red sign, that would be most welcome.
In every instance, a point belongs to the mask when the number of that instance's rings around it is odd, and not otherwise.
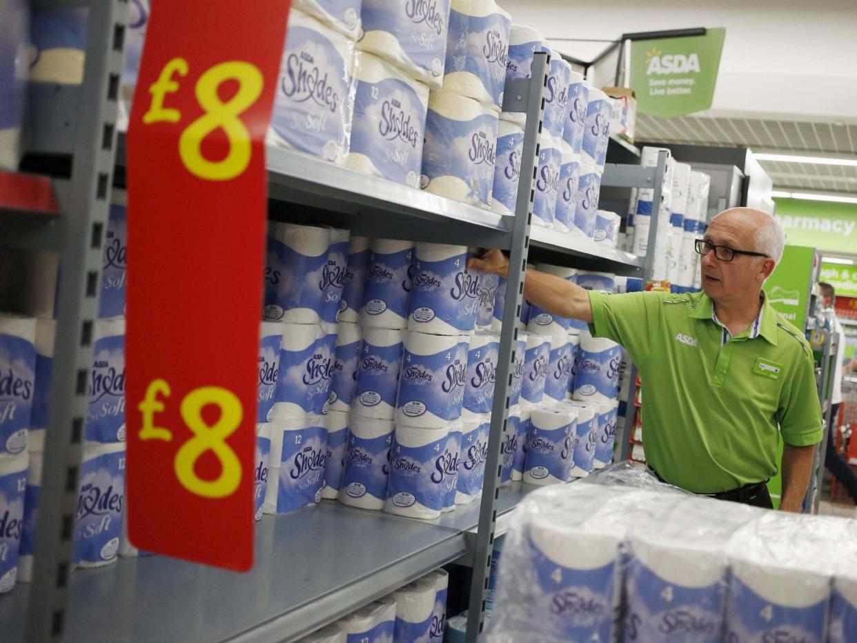
[[[126,193],[113,190],[101,260],[99,319],[125,315],[125,267],[128,259]]]

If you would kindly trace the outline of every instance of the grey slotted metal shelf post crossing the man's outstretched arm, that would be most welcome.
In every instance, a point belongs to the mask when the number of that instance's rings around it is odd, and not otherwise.
[[[476,643],[485,620],[485,592],[494,553],[494,531],[497,511],[495,503],[500,494],[500,448],[509,416],[509,390],[512,385],[512,360],[518,340],[518,318],[524,298],[524,274],[530,248],[530,222],[533,207],[533,183],[536,180],[539,135],[542,133],[544,87],[548,84],[548,54],[536,52],[530,67],[530,78],[506,79],[503,111],[523,111],[524,145],[521,152],[521,173],[518,200],[512,222],[512,248],[509,253],[509,274],[506,279],[506,306],[500,331],[500,357],[497,365],[494,406],[491,409],[491,429],[488,434],[488,455],[485,459],[485,481],[479,510],[479,527],[473,554],[473,577],[470,583],[470,604],[467,615],[467,643]]]

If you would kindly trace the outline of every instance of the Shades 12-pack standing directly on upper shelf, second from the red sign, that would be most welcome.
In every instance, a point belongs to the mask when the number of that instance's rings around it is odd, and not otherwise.
[[[357,58],[355,78],[345,166],[419,188],[428,87],[366,51]]]

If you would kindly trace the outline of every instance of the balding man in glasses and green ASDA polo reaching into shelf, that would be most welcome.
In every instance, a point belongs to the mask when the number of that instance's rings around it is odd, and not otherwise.
[[[702,292],[607,295],[528,268],[524,296],[625,346],[643,382],[643,439],[659,478],[770,508],[782,437],[780,508],[800,512],[824,431],[812,351],[762,290],[784,243],[774,217],[735,207],[696,241]],[[508,274],[499,250],[468,266]]]

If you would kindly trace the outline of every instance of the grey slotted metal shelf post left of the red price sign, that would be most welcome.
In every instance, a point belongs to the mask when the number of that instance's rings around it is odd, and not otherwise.
[[[57,336],[27,641],[61,640],[72,570],[81,445],[110,203],[127,0],[89,3],[87,49],[67,198],[61,203]],[[72,115],[69,115],[72,116]]]

